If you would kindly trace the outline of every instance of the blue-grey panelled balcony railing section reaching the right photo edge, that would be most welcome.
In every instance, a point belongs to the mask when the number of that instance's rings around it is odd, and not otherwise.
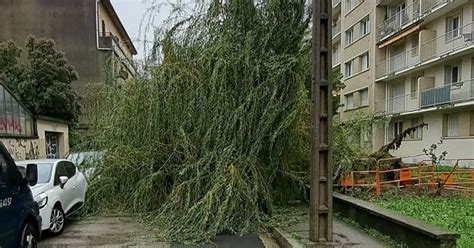
[[[474,79],[421,91],[421,108],[474,100]]]

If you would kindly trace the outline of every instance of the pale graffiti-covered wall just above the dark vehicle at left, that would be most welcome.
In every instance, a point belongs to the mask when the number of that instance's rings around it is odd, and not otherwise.
[[[37,140],[32,139],[2,139],[12,158],[18,160],[38,159],[40,156]]]

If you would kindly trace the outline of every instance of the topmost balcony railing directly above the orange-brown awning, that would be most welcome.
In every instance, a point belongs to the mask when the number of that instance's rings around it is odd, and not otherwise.
[[[379,41],[391,34],[399,32],[405,25],[412,23],[419,18],[420,2],[417,0],[378,25],[377,34]]]

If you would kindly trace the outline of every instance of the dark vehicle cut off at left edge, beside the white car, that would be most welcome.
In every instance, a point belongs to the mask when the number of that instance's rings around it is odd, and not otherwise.
[[[0,247],[37,246],[41,217],[29,187],[37,180],[36,165],[27,165],[24,178],[0,142]]]

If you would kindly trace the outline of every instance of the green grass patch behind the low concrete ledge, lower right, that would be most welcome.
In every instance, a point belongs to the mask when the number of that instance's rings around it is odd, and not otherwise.
[[[374,199],[378,205],[461,235],[458,247],[474,246],[474,199],[399,196]]]

